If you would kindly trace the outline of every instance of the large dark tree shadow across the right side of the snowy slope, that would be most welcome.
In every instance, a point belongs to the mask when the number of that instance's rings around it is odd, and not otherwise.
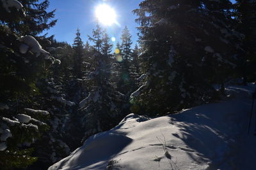
[[[198,163],[198,157],[209,159],[209,169],[236,169],[232,167],[234,157],[231,155],[237,147],[236,137],[243,129],[239,122],[249,111],[250,103],[238,100],[198,106],[170,115],[170,124],[180,128],[177,134],[172,135],[182,139],[188,148],[197,152],[196,155],[193,151],[187,152],[191,159]]]

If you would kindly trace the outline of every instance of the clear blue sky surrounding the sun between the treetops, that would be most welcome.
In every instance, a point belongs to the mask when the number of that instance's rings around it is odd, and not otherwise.
[[[57,41],[67,41],[72,44],[76,36],[76,29],[81,30],[81,38],[84,42],[88,40],[87,35],[92,35],[92,29],[95,28],[95,8],[102,3],[108,4],[114,8],[117,15],[117,22],[120,25],[104,26],[108,30],[110,37],[117,40],[122,34],[124,26],[127,25],[132,34],[132,41],[138,39],[136,15],[132,10],[138,8],[142,0],[52,0],[48,10],[56,9],[57,24],[49,31],[49,36],[54,34]],[[133,46],[135,43],[133,44]]]

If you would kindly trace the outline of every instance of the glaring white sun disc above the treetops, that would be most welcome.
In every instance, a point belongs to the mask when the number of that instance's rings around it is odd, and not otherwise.
[[[101,24],[112,25],[116,23],[116,12],[107,4],[97,6],[95,13]]]

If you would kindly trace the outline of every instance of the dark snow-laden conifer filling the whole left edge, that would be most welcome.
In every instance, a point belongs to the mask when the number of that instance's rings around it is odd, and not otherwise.
[[[38,80],[57,60],[45,50],[49,42],[39,33],[53,26],[49,1],[0,1],[0,166],[25,168],[35,162],[33,146],[49,129],[49,111],[34,99],[40,96]],[[43,47],[41,45],[44,45]],[[31,109],[33,108],[33,109]],[[35,155],[33,155],[35,156]]]

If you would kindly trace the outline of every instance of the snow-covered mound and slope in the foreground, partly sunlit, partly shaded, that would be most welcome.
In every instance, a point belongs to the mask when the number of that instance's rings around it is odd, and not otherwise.
[[[253,88],[227,87],[228,101],[168,117],[127,115],[49,170],[255,169],[255,116],[247,134]]]

